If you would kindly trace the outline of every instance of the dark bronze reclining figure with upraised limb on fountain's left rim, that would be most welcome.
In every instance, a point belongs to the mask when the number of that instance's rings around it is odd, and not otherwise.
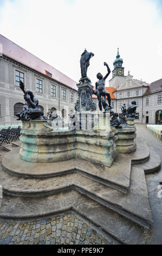
[[[34,96],[31,90],[25,90],[24,83],[20,81],[20,88],[24,93],[24,100],[26,101],[23,111],[21,113],[17,113],[17,120],[42,120],[47,119],[44,117],[43,112],[38,107],[38,99]]]

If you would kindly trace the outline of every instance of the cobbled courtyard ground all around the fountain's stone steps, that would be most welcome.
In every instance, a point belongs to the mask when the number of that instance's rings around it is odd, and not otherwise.
[[[155,150],[162,159],[162,142],[146,130],[145,125],[136,125],[137,137],[145,140],[150,152]],[[0,149],[3,156],[5,151]],[[1,158],[2,158],[1,156]],[[147,244],[162,244],[162,198],[158,197],[162,182],[162,167],[159,172],[146,175],[148,194],[153,214],[152,236]],[[161,193],[162,194],[162,193]],[[75,212],[25,221],[0,220],[0,244],[118,244],[117,241],[86,221]]]

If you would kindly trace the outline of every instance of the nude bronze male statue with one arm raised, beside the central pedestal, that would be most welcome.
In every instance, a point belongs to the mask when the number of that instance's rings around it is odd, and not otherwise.
[[[95,84],[95,91],[94,94],[97,95],[98,101],[99,101],[99,108],[100,111],[102,111],[102,106],[105,109],[105,111],[111,110],[111,96],[107,90],[105,90],[105,80],[111,73],[111,70],[109,69],[109,66],[106,62],[104,62],[104,66],[107,67],[107,74],[106,76],[102,76],[100,73],[97,74],[97,78],[99,79],[98,82]],[[102,96],[102,101],[101,101],[101,96]],[[107,96],[107,101],[108,105],[106,102],[106,96]]]

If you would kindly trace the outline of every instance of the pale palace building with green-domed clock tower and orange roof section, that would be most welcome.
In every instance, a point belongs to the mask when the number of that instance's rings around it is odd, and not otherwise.
[[[162,122],[162,79],[148,84],[134,79],[128,71],[124,74],[123,60],[120,58],[119,49],[115,61],[112,78],[106,90],[111,95],[113,111],[121,113],[121,107],[125,103],[126,108],[131,105],[132,100],[137,103],[139,119],[135,123],[155,124]],[[96,96],[93,95],[97,101]]]

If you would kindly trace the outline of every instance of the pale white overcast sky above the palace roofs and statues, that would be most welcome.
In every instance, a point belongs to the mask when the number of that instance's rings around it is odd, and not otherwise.
[[[0,0],[0,33],[76,82],[85,47],[93,84],[118,47],[125,75],[162,78],[162,0]]]

